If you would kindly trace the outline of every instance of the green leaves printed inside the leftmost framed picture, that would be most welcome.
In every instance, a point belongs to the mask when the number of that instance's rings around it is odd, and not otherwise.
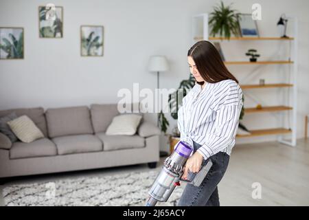
[[[13,34],[9,34],[10,39],[3,38],[3,44],[0,44],[0,50],[8,55],[6,58],[23,58],[23,32],[16,39]]]

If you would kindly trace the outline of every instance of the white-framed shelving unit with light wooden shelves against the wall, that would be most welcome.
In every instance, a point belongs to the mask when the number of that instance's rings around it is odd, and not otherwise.
[[[290,45],[293,44],[292,50],[290,50],[290,56],[287,61],[225,61],[225,65],[293,65],[293,72],[290,73],[292,78],[288,83],[273,83],[265,85],[240,85],[242,90],[247,89],[289,89],[292,92],[292,101],[285,105],[267,106],[262,108],[245,108],[245,114],[249,113],[281,113],[288,112],[290,114],[291,122],[286,127],[284,126],[284,118],[282,119],[282,127],[274,129],[259,129],[250,130],[250,134],[238,134],[237,137],[255,137],[262,135],[277,135],[278,142],[288,144],[289,146],[296,146],[296,133],[297,133],[297,18],[288,17],[289,23],[293,21],[294,36],[289,38],[279,38],[274,36],[260,36],[260,37],[231,37],[229,42],[232,41],[290,41]],[[208,14],[197,14],[192,17],[192,41],[227,41],[228,39],[222,37],[209,37],[208,35]],[[291,55],[293,55],[293,61],[291,61]],[[290,93],[289,93],[290,95]],[[245,94],[244,94],[245,96]],[[257,116],[258,117],[258,116]],[[284,140],[284,135],[290,134],[290,140]]]

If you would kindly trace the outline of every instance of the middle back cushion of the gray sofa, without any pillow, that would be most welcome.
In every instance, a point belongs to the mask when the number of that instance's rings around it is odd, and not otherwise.
[[[47,109],[45,115],[49,137],[93,133],[87,106]]]

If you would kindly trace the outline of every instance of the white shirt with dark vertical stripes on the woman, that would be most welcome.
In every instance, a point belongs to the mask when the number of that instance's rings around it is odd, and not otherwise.
[[[220,151],[231,155],[242,104],[242,89],[234,80],[206,83],[203,89],[196,83],[178,111],[180,140],[201,144],[198,153],[205,159]]]

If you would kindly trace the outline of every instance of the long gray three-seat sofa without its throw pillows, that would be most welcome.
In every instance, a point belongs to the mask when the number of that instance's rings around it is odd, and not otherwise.
[[[45,135],[31,143],[11,143],[0,133],[0,178],[71,170],[106,168],[159,161],[160,130],[145,118],[137,133],[105,135],[117,104],[47,109],[10,109],[0,111],[0,117],[14,111],[27,115]]]

